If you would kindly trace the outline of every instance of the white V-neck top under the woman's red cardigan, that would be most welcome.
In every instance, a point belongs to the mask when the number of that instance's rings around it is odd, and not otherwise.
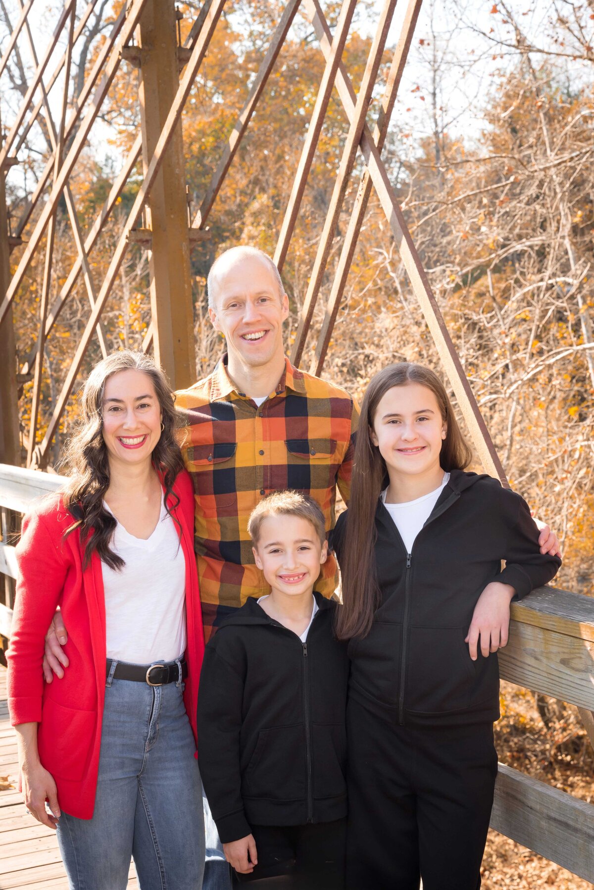
[[[185,558],[165,504],[150,538],[134,538],[118,522],[111,549],[126,565],[114,571],[102,562],[108,658],[140,665],[178,659],[186,645]]]

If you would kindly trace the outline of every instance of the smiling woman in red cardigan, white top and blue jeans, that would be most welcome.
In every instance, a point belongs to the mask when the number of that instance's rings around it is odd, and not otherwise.
[[[23,796],[57,828],[70,887],[125,887],[132,855],[142,890],[199,890],[194,500],[153,360],[99,362],[64,465],[66,489],[27,515],[17,546],[7,658]],[[45,685],[57,606],[70,669]]]

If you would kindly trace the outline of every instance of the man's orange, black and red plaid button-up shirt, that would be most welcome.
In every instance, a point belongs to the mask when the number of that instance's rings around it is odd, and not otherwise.
[[[257,408],[230,380],[225,359],[190,389],[176,393],[184,420],[183,460],[196,498],[195,547],[207,639],[248,596],[269,592],[256,568],[248,518],[265,494],[295,489],[336,520],[336,490],[348,500],[358,413],[338,386],[305,374],[288,359],[274,392]],[[332,554],[316,584],[331,596]]]

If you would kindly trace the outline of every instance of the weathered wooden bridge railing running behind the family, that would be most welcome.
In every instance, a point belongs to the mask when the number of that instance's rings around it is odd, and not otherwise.
[[[8,578],[16,578],[14,546],[4,533],[13,527],[12,514],[60,485],[60,476],[0,464],[0,572]],[[11,619],[12,602],[0,603],[5,637]],[[594,598],[541,587],[512,603],[509,643],[499,659],[502,679],[579,708],[594,744]],[[594,805],[500,764],[491,824],[594,883]]]

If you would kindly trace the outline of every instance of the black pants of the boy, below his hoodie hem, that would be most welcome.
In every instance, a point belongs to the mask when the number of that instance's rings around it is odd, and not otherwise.
[[[315,825],[252,825],[257,865],[248,875],[232,869],[232,885],[250,890],[343,890],[346,819]]]

